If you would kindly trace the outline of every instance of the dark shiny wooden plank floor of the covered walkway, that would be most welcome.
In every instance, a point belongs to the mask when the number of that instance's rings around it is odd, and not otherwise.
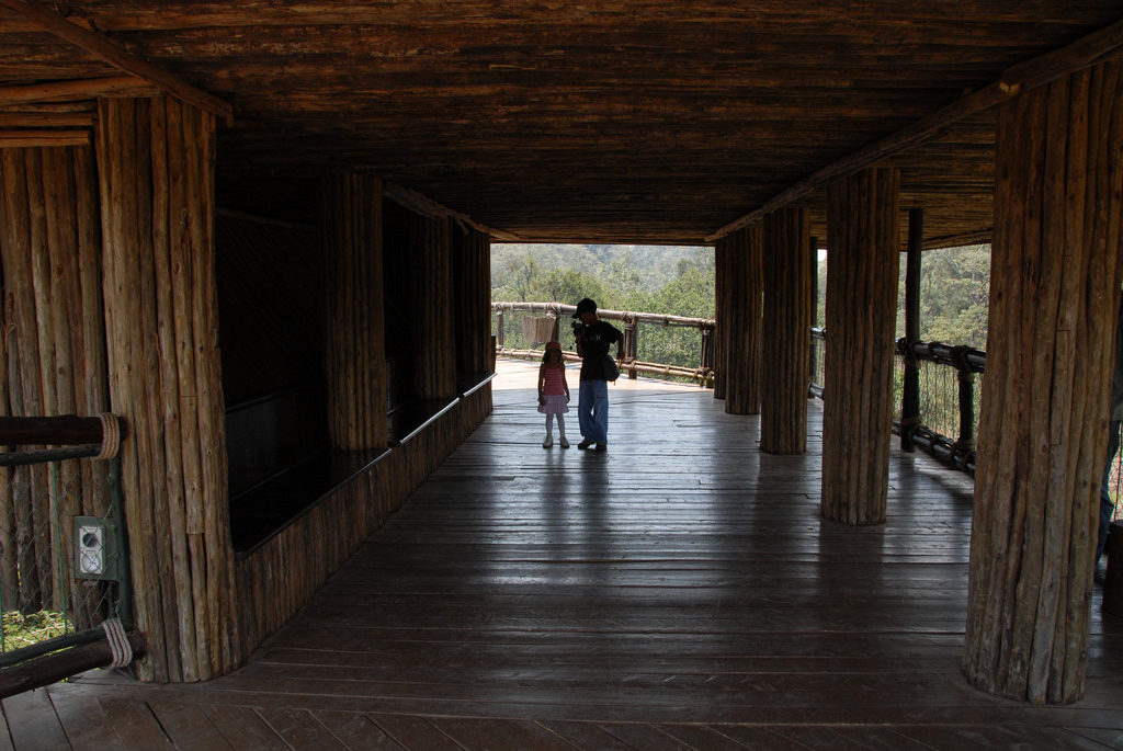
[[[960,675],[967,478],[894,450],[888,523],[844,528],[818,403],[774,457],[710,392],[620,382],[608,451],[544,450],[536,366],[501,370],[494,415],[246,667],[16,697],[0,749],[1123,748],[1098,590],[1081,702]]]

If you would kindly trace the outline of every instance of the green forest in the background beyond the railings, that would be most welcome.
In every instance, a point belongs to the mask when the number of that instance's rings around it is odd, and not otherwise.
[[[823,324],[827,265],[821,254],[818,326]],[[904,274],[902,254],[898,338],[904,336]],[[712,247],[492,245],[493,301],[576,304],[582,297],[592,297],[597,305],[610,310],[713,318],[713,277]],[[986,349],[989,278],[988,245],[924,251],[921,338]],[[505,332],[508,346],[523,346],[519,324],[509,326]],[[563,344],[572,346],[572,342]],[[700,347],[697,331],[645,327],[640,332],[639,357],[652,363],[693,367],[697,365]]]

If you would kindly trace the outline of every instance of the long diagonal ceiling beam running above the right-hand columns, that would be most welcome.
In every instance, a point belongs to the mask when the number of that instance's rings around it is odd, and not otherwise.
[[[704,239],[706,242],[713,242],[742,227],[756,223],[765,214],[824,187],[839,177],[870,167],[895,154],[941,136],[948,126],[1007,101],[1016,97],[1023,89],[1040,86],[1087,67],[1097,61],[1117,55],[1121,47],[1123,47],[1123,20],[1089,34],[1066,47],[1013,65],[1006,68],[995,83],[967,94],[926,118],[905,126],[901,130],[827,165],[766,201],[760,208],[725,225]]]

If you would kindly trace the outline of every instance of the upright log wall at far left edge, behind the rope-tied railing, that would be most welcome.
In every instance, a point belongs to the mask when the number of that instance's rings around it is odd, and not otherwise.
[[[93,149],[3,149],[0,182],[0,410],[30,416],[104,412]],[[6,469],[10,482],[0,478],[0,583],[8,610],[63,610],[61,578],[69,564],[58,555],[71,549],[69,520],[109,509],[104,462],[66,462],[55,471],[57,483],[49,482],[46,466]],[[53,544],[56,533],[61,550]],[[79,628],[101,620],[90,607],[93,595],[100,596],[90,589],[99,586],[79,581],[70,592]]]

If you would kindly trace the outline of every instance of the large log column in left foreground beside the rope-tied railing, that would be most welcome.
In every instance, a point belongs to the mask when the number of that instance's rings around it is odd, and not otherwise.
[[[210,115],[100,100],[103,290],[141,676],[204,680],[240,660],[214,290]]]

